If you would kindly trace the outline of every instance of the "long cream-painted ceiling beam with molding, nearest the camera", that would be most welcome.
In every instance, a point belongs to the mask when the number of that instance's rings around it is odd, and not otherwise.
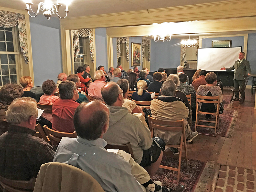
[[[230,0],[197,5],[149,9],[61,19],[65,29],[148,25],[162,22],[256,16],[256,0]],[[136,18],[136,19],[135,19]]]

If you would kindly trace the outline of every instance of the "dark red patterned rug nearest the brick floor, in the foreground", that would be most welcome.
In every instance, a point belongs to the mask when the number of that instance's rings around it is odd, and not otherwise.
[[[169,157],[163,155],[161,165],[172,166],[178,168],[179,160],[175,157]],[[184,192],[193,191],[194,185],[196,185],[197,179],[201,175],[201,170],[204,168],[205,162],[194,159],[188,159],[188,168],[185,167],[185,159],[181,161],[180,180],[177,182],[177,171],[158,168],[156,174],[153,177],[153,181],[161,181],[163,186],[175,188],[178,184],[185,186]]]

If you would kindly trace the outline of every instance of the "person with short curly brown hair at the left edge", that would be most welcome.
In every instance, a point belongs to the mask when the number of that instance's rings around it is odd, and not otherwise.
[[[0,111],[7,111],[12,101],[16,98],[20,98],[22,95],[23,90],[20,85],[10,83],[5,84],[0,89]],[[6,122],[6,115],[1,115],[0,121]]]

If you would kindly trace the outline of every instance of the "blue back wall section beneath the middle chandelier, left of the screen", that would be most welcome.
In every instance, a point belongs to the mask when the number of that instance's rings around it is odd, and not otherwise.
[[[180,39],[155,42],[151,40],[150,71],[159,68],[177,68],[180,65]]]

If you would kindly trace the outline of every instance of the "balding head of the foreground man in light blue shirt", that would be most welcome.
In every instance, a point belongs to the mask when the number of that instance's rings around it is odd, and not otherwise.
[[[77,135],[83,139],[93,141],[100,138],[108,124],[109,109],[102,102],[83,102],[75,111],[74,127]]]

